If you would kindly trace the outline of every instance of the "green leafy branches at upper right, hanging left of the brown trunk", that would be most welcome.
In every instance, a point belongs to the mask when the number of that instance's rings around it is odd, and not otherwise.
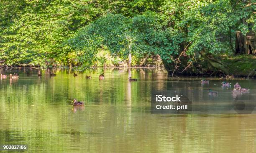
[[[234,39],[236,30],[241,30],[243,34],[248,32],[248,25],[242,20],[254,24],[255,5],[245,7],[248,4],[251,1],[174,0],[167,1],[162,11],[169,15],[171,26],[186,36],[186,43],[191,43],[188,54],[220,54],[232,51],[230,46],[234,42],[230,42]]]

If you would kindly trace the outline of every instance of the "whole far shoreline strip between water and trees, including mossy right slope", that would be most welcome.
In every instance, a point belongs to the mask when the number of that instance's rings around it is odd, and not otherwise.
[[[193,63],[193,66],[188,68],[186,71],[182,72],[182,69],[185,66],[180,66],[179,69],[174,73],[173,77],[182,77],[182,76],[195,76],[195,77],[214,77],[214,78],[225,78],[227,75],[234,76],[236,78],[249,78],[249,79],[256,79],[256,56],[255,55],[236,55],[236,56],[221,56],[219,59],[223,65],[225,66],[225,70],[227,74],[221,72],[221,70],[212,67],[206,60],[198,60],[197,62]],[[30,65],[23,65],[17,67],[8,67],[2,65],[0,68],[2,69],[70,69],[72,71],[84,71],[85,69],[129,69],[129,68],[144,68],[144,69],[160,69],[164,71],[163,64],[159,64],[159,60],[157,61],[158,64],[151,64],[150,67],[127,67],[122,65],[113,66],[113,67],[66,67],[66,66],[54,66],[54,67],[33,67]],[[172,74],[173,70],[169,71],[169,76]],[[182,73],[180,73],[182,72]]]

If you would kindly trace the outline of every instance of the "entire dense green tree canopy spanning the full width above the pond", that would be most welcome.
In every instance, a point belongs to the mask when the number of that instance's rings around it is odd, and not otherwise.
[[[253,0],[0,0],[0,61],[97,66],[97,53],[165,64],[232,54],[235,32],[256,31]],[[136,64],[136,63],[135,63]]]

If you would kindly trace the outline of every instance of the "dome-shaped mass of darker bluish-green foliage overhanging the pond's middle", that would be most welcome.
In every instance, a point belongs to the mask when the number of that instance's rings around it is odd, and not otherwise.
[[[106,46],[112,55],[123,59],[129,53],[139,58],[160,54],[162,59],[171,62],[170,55],[178,54],[182,41],[182,35],[168,27],[161,15],[146,12],[133,18],[108,14],[79,30],[69,40],[75,43],[69,45],[78,52],[91,46],[95,47],[91,52],[97,52],[97,47]]]

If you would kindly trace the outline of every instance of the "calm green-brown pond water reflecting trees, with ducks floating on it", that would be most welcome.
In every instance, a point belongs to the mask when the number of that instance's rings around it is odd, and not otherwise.
[[[223,80],[171,80],[159,69],[90,69],[77,77],[64,69],[56,77],[43,71],[40,78],[36,71],[29,77],[27,70],[15,71],[18,80],[0,81],[0,144],[27,144],[28,152],[37,153],[256,152],[256,114],[151,114],[155,89],[182,89],[200,104],[232,102],[232,88],[222,89]],[[105,80],[99,81],[103,71]],[[128,82],[130,74],[138,81]],[[256,97],[256,80],[229,82]],[[218,97],[207,89],[219,91]],[[193,90],[197,94],[189,94]],[[84,107],[72,106],[74,98]]]

